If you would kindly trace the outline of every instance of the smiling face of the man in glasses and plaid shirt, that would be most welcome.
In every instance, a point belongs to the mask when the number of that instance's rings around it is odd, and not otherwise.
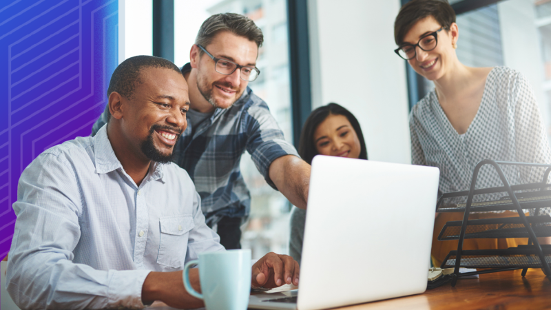
[[[194,46],[196,48],[196,46]],[[216,58],[227,59],[254,67],[258,56],[258,46],[254,41],[223,31],[205,46]],[[214,70],[214,60],[206,53],[196,53],[192,56],[191,67],[197,69],[197,87],[199,92],[214,107],[226,109],[231,107],[247,89],[249,82],[240,79],[240,70],[230,75],[224,75]]]

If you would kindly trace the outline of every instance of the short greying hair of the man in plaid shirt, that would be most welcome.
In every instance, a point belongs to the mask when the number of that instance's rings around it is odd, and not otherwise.
[[[222,31],[229,31],[240,37],[245,37],[249,41],[254,41],[258,48],[264,42],[262,30],[249,17],[236,13],[220,13],[212,15],[202,23],[195,43],[206,48],[214,36]],[[201,55],[202,53],[203,51],[200,50]]]

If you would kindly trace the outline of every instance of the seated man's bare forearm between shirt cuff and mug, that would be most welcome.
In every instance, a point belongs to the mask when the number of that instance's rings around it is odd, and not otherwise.
[[[202,300],[189,295],[185,290],[182,272],[183,271],[149,273],[143,282],[143,303],[150,304],[155,300],[160,300],[170,307],[178,309],[205,307]],[[189,282],[191,282],[191,286],[196,291],[199,293],[201,292],[198,269],[189,269]]]

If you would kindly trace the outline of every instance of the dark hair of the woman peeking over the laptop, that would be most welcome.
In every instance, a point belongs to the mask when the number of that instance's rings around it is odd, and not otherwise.
[[[298,144],[298,154],[306,163],[312,164],[314,156],[318,155],[318,149],[315,148],[314,133],[318,129],[318,126],[325,121],[325,118],[329,115],[342,115],[348,118],[350,125],[356,132],[358,140],[360,140],[360,159],[367,159],[366,142],[364,141],[364,134],[362,134],[362,128],[360,123],[354,115],[346,110],[344,107],[337,105],[337,103],[329,103],[322,107],[318,107],[313,110],[302,127],[300,133],[300,143]]]

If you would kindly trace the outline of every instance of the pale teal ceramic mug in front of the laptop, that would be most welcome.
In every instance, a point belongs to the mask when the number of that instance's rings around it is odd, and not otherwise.
[[[202,293],[189,283],[189,268],[198,264]],[[251,293],[251,250],[205,252],[187,262],[183,280],[187,292],[205,301],[208,310],[245,310]]]

